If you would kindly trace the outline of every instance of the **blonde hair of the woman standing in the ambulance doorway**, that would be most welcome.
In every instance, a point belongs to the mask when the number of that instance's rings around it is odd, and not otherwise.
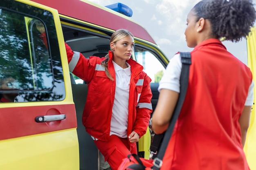
[[[130,31],[127,31],[125,29],[118,29],[117,31],[115,31],[112,34],[112,36],[110,38],[110,42],[113,42],[115,44],[117,41],[119,41],[122,38],[127,37],[127,36],[132,36],[133,37],[133,35],[132,35],[132,33],[130,33]],[[112,51],[112,49],[111,49],[111,51]],[[110,75],[109,71],[108,71],[109,55],[107,54],[105,57],[106,57],[105,60],[103,60],[101,62],[101,66],[103,66],[105,68],[105,73],[108,76],[108,78],[111,79],[111,80],[114,80],[112,78],[112,76]]]

